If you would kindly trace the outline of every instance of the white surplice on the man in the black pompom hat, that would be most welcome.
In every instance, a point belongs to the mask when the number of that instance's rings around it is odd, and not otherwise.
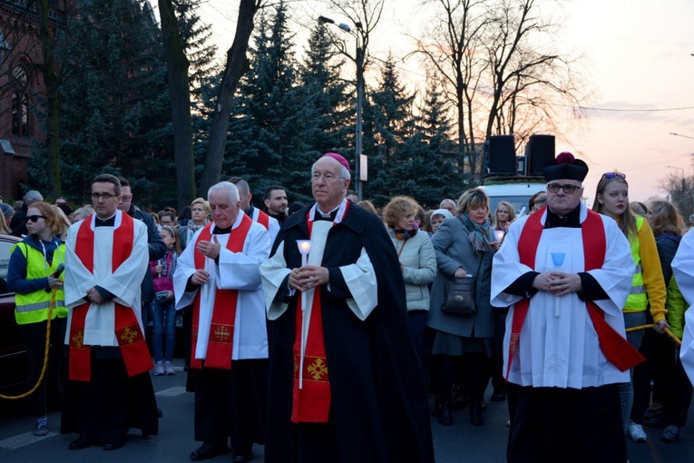
[[[587,214],[585,205],[581,204],[581,222],[585,221]],[[494,255],[491,300],[495,307],[511,306],[522,299],[503,291],[528,271],[585,271],[580,228],[544,229],[537,248],[535,268],[523,265],[518,254],[518,240],[527,217],[513,222],[501,249]],[[545,218],[546,212],[542,223]],[[629,241],[617,223],[606,216],[601,216],[601,219],[607,245],[605,262],[601,269],[589,273],[610,299],[595,300],[595,303],[604,311],[605,320],[611,327],[625,336],[621,308],[629,295],[635,266]],[[552,252],[565,255],[559,269],[554,266]],[[573,389],[629,381],[629,371],[620,371],[602,354],[586,304],[577,294],[560,298],[559,317],[555,316],[555,299],[552,293],[545,291],[538,291],[530,299],[509,381],[522,386]],[[504,374],[508,366],[512,323],[513,307],[506,318],[503,339]]]

